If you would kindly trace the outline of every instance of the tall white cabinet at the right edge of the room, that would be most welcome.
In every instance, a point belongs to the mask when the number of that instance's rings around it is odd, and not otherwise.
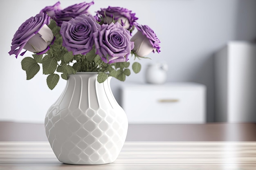
[[[256,122],[256,44],[229,42],[215,56],[216,121]]]

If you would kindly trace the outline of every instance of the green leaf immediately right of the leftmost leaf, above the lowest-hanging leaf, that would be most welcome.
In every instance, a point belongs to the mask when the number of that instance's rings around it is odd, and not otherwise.
[[[55,57],[46,55],[42,60],[42,64],[43,64],[43,74],[52,74],[54,73],[54,71],[56,71],[57,60]]]

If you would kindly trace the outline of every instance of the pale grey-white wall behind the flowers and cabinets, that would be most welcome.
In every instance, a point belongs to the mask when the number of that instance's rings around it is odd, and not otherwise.
[[[44,121],[49,106],[65,87],[61,80],[53,91],[46,85],[42,70],[26,80],[22,57],[9,56],[11,39],[20,24],[56,0],[7,0],[0,2],[0,120]],[[83,0],[61,0],[67,7]],[[87,1],[90,2],[90,1]],[[125,7],[136,13],[140,24],[149,25],[161,41],[161,53],[152,60],[141,60],[141,73],[128,82],[144,82],[144,69],[150,62],[166,61],[168,82],[192,81],[205,84],[207,120],[214,121],[213,53],[230,40],[254,40],[256,36],[255,0],[94,0],[91,12],[110,6]],[[30,56],[26,53],[25,56]],[[25,57],[24,56],[24,57]],[[112,79],[112,90],[125,82]]]

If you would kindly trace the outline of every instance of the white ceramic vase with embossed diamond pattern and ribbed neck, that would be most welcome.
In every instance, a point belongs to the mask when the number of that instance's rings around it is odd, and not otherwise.
[[[97,73],[70,75],[49,108],[45,131],[54,154],[67,164],[97,165],[115,161],[124,145],[128,120],[110,89],[110,78]]]

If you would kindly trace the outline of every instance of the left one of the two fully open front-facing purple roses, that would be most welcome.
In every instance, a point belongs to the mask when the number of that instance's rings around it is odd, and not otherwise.
[[[92,15],[79,15],[70,21],[64,21],[61,25],[61,35],[63,37],[63,46],[73,55],[85,55],[91,51],[94,44],[93,33],[97,32],[101,26]]]

